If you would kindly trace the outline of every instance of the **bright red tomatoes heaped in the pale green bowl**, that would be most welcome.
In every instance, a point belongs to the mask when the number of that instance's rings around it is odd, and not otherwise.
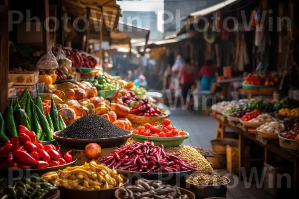
[[[143,126],[137,127],[133,134],[144,135],[148,137],[178,137],[187,135],[183,130],[178,130],[175,126],[171,125],[169,119],[164,119],[163,124],[151,125],[146,123]]]

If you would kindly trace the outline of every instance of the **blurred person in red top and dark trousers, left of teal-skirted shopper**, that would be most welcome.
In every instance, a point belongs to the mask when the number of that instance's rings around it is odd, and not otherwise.
[[[188,91],[190,91],[192,85],[194,85],[195,74],[195,67],[192,64],[190,64],[190,58],[185,58],[183,67],[180,69],[179,72],[181,90],[184,101],[187,98]]]

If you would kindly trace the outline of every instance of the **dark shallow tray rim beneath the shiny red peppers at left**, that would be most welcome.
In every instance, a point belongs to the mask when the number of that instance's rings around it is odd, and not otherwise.
[[[13,178],[17,178],[20,175],[22,176],[31,176],[31,175],[39,175],[42,176],[45,173],[52,172],[52,171],[58,171],[65,169],[66,167],[72,167],[75,166],[77,162],[77,158],[74,157],[74,161],[64,164],[64,165],[59,165],[59,166],[54,166],[54,167],[47,167],[44,169],[0,169],[0,176],[1,177],[10,177],[12,175]]]

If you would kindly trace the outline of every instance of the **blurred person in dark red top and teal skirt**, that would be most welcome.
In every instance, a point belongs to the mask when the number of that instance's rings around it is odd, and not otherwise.
[[[206,65],[200,68],[199,78],[201,91],[210,91],[212,84],[216,81],[216,71],[212,65],[213,61],[207,60]]]

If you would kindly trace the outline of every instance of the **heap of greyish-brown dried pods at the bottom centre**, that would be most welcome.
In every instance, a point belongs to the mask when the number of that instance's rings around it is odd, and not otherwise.
[[[121,199],[189,199],[187,195],[181,195],[179,189],[166,185],[161,181],[139,179],[135,186],[120,188]]]

